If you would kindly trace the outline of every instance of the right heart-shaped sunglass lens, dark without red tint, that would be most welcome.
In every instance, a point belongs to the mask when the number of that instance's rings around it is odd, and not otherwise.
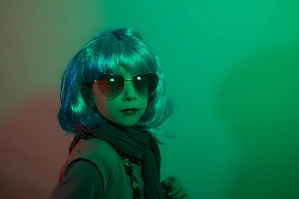
[[[149,97],[156,91],[159,79],[156,74],[148,73],[136,75],[133,81],[137,92],[141,96]]]

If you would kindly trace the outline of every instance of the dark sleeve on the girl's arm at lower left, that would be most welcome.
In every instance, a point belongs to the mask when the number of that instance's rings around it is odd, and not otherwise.
[[[55,187],[51,199],[100,199],[103,192],[104,182],[99,170],[92,163],[80,160]]]

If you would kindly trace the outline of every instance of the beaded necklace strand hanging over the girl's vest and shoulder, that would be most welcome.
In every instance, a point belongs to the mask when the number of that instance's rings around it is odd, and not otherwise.
[[[83,131],[81,131],[72,141],[70,148],[69,148],[69,154],[74,149],[74,147],[77,145],[80,139],[88,140],[91,138],[94,138],[94,135],[86,134]],[[135,170],[132,166],[132,163],[127,155],[122,155],[121,159],[123,160],[123,163],[125,165],[126,173],[128,176],[130,176],[131,180],[131,187],[133,188],[133,196],[134,199],[141,199],[140,191],[139,191],[139,184],[137,181],[137,178],[135,176]]]

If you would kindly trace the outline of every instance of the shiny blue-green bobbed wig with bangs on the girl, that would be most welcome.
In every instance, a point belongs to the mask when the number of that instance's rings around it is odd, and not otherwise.
[[[84,97],[82,87],[102,73],[120,73],[119,66],[124,66],[128,72],[156,73],[159,76],[158,88],[149,97],[147,109],[134,127],[148,131],[154,138],[156,133],[161,133],[159,128],[173,113],[173,104],[165,95],[163,73],[142,36],[133,29],[123,28],[97,34],[66,66],[61,80],[58,113],[59,124],[66,135],[77,135],[76,122],[92,128],[105,121],[92,100]]]

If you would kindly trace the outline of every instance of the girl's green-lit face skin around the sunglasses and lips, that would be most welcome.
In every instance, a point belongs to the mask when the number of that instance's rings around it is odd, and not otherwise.
[[[136,75],[126,72],[124,67],[121,71],[120,75],[125,79],[132,79]],[[105,97],[96,84],[93,85],[92,92],[99,112],[110,121],[124,127],[135,125],[147,108],[148,98],[141,97],[136,93],[132,81],[126,81],[123,92],[112,100]],[[138,110],[135,114],[121,111],[126,108],[137,108]]]

